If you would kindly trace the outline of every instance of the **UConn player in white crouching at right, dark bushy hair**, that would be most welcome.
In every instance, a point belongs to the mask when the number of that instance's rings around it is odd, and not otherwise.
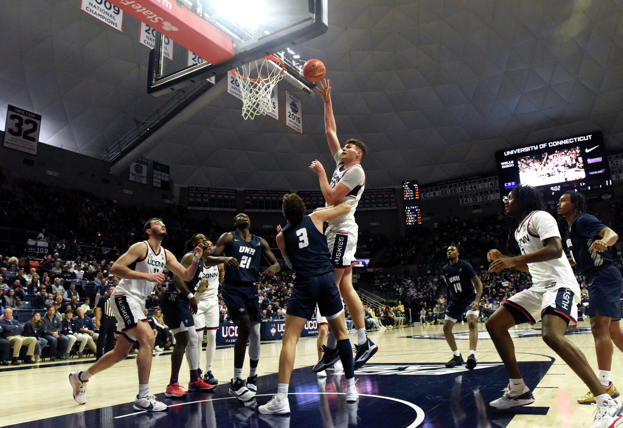
[[[489,272],[514,267],[518,271],[530,272],[534,285],[506,300],[485,323],[509,377],[502,398],[489,405],[495,409],[509,409],[535,401],[521,378],[508,329],[525,322],[534,325],[541,319],[543,342],[563,358],[595,396],[599,409],[591,428],[609,427],[619,418],[617,414],[623,411],[623,405],[606,393],[582,351],[564,337],[569,321],[576,323],[580,291],[563,252],[558,224],[545,211],[541,192],[532,186],[513,188],[504,207],[506,213],[519,222],[515,239],[521,255],[506,257],[497,249],[490,250],[487,258],[493,263]]]

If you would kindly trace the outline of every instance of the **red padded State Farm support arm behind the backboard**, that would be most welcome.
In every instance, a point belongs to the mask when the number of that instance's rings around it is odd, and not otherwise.
[[[197,53],[207,62],[216,65],[234,57],[231,37],[183,6],[181,2],[174,0],[110,0],[110,2],[174,42]]]

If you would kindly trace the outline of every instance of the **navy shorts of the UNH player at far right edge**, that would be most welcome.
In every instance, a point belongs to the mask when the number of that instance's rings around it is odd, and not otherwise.
[[[602,317],[612,320],[621,319],[621,292],[623,292],[623,277],[616,266],[597,267],[588,282],[588,316],[593,317],[595,312]]]

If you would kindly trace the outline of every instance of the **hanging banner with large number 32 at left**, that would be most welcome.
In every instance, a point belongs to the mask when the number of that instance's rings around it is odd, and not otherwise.
[[[4,147],[37,154],[41,116],[9,105],[4,128]]]

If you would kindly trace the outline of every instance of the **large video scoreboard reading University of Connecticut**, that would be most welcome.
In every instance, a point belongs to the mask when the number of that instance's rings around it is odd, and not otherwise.
[[[495,159],[500,189],[506,193],[518,184],[539,187],[548,194],[603,184],[611,178],[601,131],[499,151]]]

